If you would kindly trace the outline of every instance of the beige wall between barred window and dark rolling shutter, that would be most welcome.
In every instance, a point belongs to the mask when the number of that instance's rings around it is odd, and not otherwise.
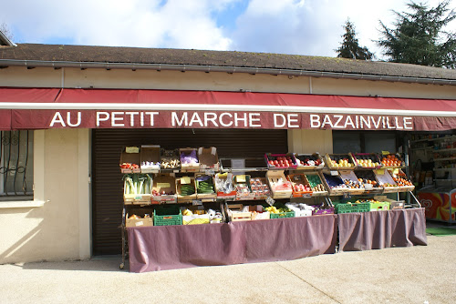
[[[45,204],[0,207],[0,263],[89,258],[89,130],[40,130],[34,138],[35,200]]]

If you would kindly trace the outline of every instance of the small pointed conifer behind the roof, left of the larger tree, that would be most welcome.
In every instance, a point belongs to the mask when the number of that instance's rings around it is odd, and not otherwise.
[[[366,46],[359,46],[358,39],[356,38],[355,26],[350,20],[347,20],[347,23],[343,27],[345,28],[346,33],[342,35],[342,37],[344,37],[342,45],[336,50],[337,57],[362,60],[372,59],[374,54],[370,53]]]

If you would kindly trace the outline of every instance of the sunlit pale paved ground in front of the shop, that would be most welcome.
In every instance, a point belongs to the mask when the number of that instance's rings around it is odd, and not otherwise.
[[[455,303],[456,236],[428,241],[141,274],[120,257],[0,265],[0,303]]]

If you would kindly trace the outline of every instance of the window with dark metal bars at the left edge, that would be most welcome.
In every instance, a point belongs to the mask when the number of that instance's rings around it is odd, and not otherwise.
[[[33,131],[0,135],[0,200],[33,199]]]

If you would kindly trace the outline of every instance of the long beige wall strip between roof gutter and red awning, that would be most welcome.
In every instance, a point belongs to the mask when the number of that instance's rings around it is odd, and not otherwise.
[[[188,89],[284,92],[350,96],[396,96],[454,99],[456,86],[350,80],[307,76],[270,76],[245,73],[204,73],[152,70],[54,69],[10,66],[0,69],[0,86]]]

